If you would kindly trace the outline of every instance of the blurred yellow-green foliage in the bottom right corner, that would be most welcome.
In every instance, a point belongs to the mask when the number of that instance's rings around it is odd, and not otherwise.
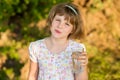
[[[112,52],[103,52],[89,59],[90,80],[119,80],[120,60],[115,60]]]

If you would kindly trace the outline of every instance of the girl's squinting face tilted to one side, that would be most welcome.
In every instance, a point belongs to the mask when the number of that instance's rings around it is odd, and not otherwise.
[[[65,19],[65,16],[56,15],[52,21],[50,27],[51,34],[55,38],[68,38],[68,35],[72,32],[73,25],[69,20]]]

